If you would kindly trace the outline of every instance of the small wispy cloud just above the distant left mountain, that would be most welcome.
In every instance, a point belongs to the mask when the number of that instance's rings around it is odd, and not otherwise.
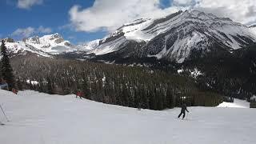
[[[33,34],[49,34],[51,32],[52,32],[52,30],[48,27],[46,27],[46,28],[43,26],[39,26],[38,28],[27,27],[24,29],[18,28],[11,34],[11,36],[20,37],[20,38],[28,38],[28,37],[32,36]]]

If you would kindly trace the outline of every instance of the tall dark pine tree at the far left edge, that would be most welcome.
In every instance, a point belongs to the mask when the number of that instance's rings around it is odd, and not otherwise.
[[[13,74],[13,69],[10,66],[10,58],[9,55],[7,54],[5,42],[2,40],[2,45],[1,45],[1,75],[2,78],[6,80],[6,82],[9,85],[9,88],[14,88],[14,74]]]

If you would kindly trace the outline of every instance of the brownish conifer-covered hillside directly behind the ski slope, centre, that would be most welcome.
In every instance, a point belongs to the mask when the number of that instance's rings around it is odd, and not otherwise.
[[[179,106],[182,98],[191,106],[217,106],[222,102],[221,95],[199,90],[194,78],[162,70],[35,54],[14,57],[11,62],[20,90],[74,94],[80,89],[85,98],[97,102],[152,110]]]

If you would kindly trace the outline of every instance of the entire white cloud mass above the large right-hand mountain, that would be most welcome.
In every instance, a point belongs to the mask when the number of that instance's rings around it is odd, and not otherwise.
[[[70,11],[72,28],[77,31],[113,31],[126,22],[138,18],[158,18],[178,10],[194,9],[227,17],[234,22],[256,22],[255,0],[170,0],[170,7],[161,8],[160,0],[95,0],[94,5]],[[71,26],[70,26],[71,27]]]

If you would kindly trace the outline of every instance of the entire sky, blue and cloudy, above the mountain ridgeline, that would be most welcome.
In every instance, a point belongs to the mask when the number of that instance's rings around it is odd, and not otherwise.
[[[246,25],[256,22],[256,4],[251,0],[0,0],[4,20],[0,38],[59,33],[77,44],[103,38],[136,18],[158,18],[186,9]]]

